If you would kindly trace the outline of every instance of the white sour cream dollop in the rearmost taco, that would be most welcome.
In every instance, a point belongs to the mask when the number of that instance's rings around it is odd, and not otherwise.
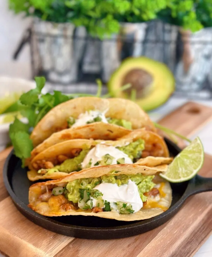
[[[71,127],[74,128],[86,125],[88,121],[93,121],[93,119],[97,117],[100,117],[102,119],[101,122],[108,123],[107,119],[105,118],[105,113],[102,113],[100,111],[88,111],[85,113],[81,113]]]

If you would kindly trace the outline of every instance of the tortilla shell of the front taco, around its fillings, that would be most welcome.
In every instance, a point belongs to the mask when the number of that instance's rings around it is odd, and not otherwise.
[[[45,191],[46,186],[48,185],[57,185],[57,186],[66,186],[66,184],[70,181],[80,178],[97,178],[103,175],[111,175],[113,171],[119,171],[118,174],[125,174],[125,175],[134,175],[137,173],[142,173],[143,175],[153,175],[156,174],[160,170],[160,166],[157,168],[150,168],[146,166],[140,166],[135,164],[117,164],[111,166],[101,166],[101,167],[94,167],[90,169],[85,169],[79,172],[73,172],[70,175],[59,179],[59,180],[51,180],[47,182],[40,182],[32,185],[29,189],[29,207],[36,211],[37,213],[45,216],[65,216],[65,215],[83,215],[83,216],[97,216],[101,218],[108,218],[108,219],[117,219],[120,221],[134,221],[134,220],[142,220],[148,219],[154,216],[157,216],[167,210],[172,201],[172,190],[171,186],[168,182],[163,181],[163,195],[161,196],[158,202],[154,201],[151,197],[148,197],[148,201],[154,202],[154,208],[141,208],[138,212],[132,214],[119,214],[118,212],[111,211],[111,212],[87,212],[85,211],[77,211],[74,209],[70,210],[63,210],[56,205],[52,208],[49,206],[47,202],[41,202],[38,199],[39,195]]]

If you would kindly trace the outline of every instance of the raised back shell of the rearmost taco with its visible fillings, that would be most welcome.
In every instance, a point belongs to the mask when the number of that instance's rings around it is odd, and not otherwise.
[[[147,127],[156,131],[149,116],[130,100],[79,97],[51,109],[32,131],[31,140],[35,147],[55,132],[97,122],[110,123],[116,130],[122,126],[133,130]]]

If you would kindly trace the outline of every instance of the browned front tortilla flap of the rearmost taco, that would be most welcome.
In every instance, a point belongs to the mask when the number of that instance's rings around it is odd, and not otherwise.
[[[71,139],[102,139],[102,140],[116,140],[119,137],[129,134],[131,130],[124,127],[107,124],[102,122],[95,122],[85,126],[76,128],[66,128],[59,132],[53,133],[50,137],[45,139],[41,144],[37,145],[31,152],[31,160],[48,147],[67,141]]]

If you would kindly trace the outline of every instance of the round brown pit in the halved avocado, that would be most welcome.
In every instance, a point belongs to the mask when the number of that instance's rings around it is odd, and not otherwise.
[[[126,89],[127,94],[131,94],[132,89],[136,90],[136,98],[142,98],[148,95],[152,89],[153,77],[143,69],[130,70],[122,80],[122,86],[131,84],[131,87]]]

